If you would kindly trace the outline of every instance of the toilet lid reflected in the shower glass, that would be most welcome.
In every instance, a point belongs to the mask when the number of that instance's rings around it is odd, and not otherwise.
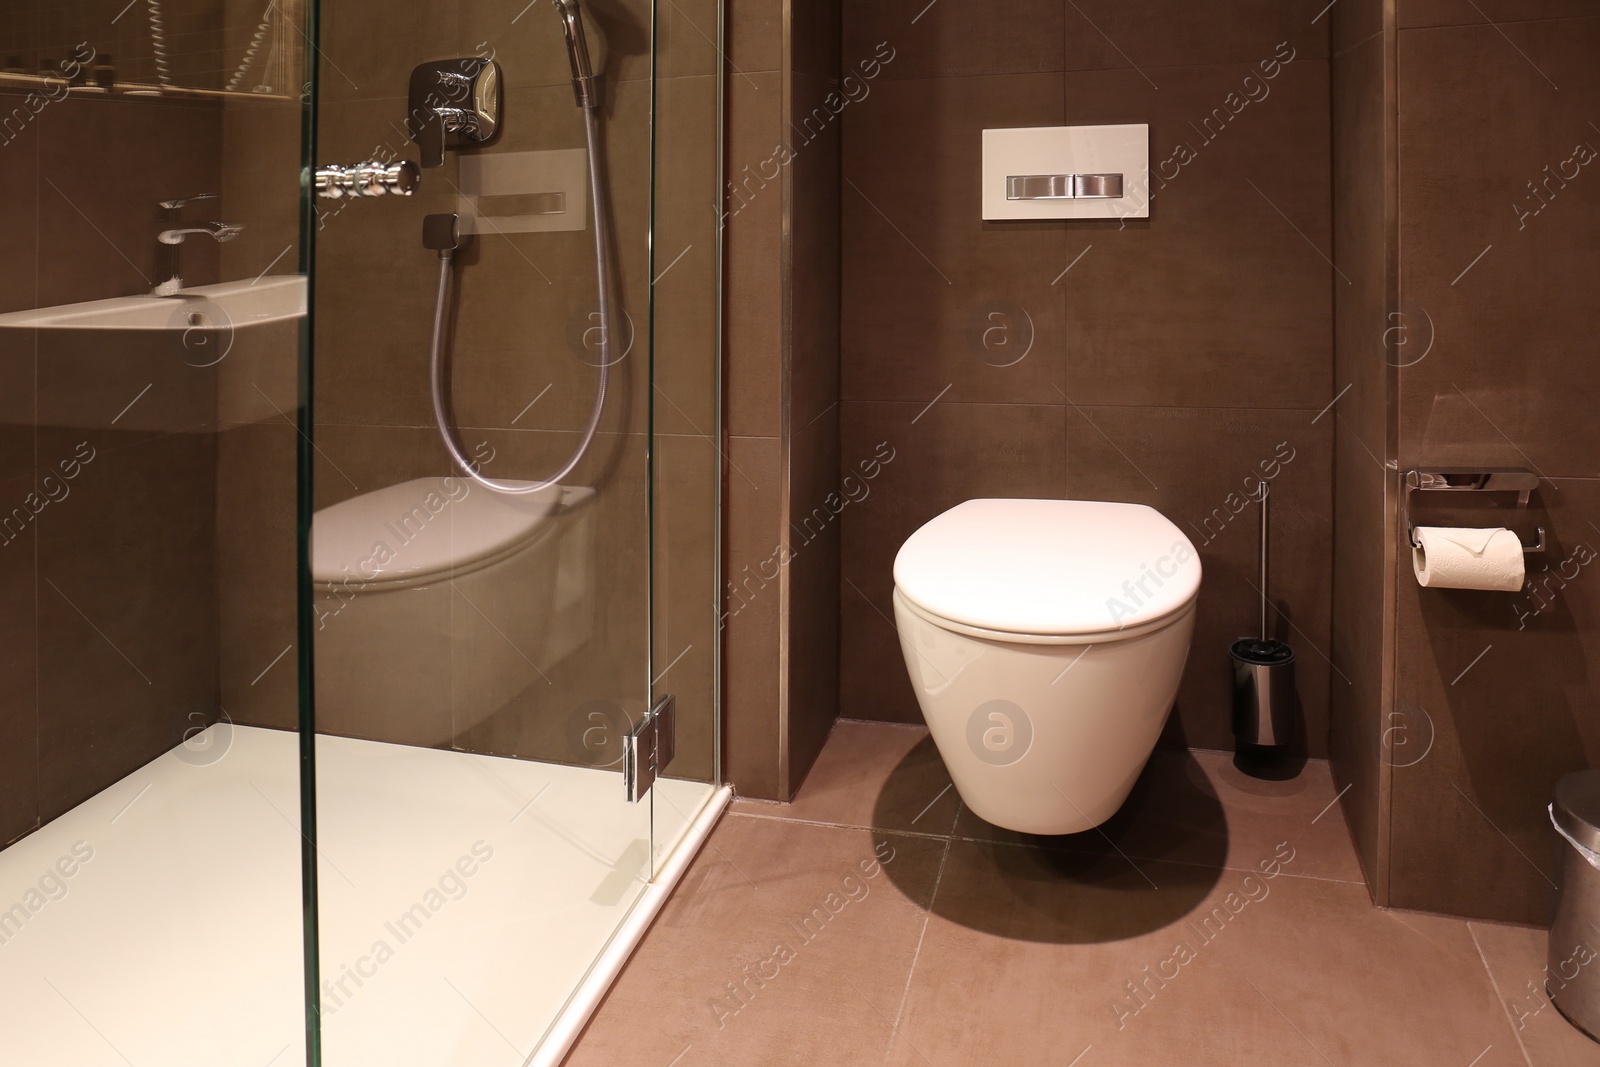
[[[310,576],[373,582],[450,574],[525,541],[560,502],[558,485],[507,494],[454,477],[362,493],[312,517]]]

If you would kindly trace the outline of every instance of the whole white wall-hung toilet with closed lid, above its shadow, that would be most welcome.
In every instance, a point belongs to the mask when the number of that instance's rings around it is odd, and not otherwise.
[[[1109,819],[1166,723],[1200,560],[1166,517],[1104,501],[966,501],[906,539],[894,621],[962,800],[995,825]]]

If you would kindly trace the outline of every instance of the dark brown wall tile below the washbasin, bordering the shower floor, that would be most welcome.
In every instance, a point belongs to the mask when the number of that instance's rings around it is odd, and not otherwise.
[[[37,518],[45,821],[218,715],[214,442],[139,437],[40,430],[40,456],[94,450]]]

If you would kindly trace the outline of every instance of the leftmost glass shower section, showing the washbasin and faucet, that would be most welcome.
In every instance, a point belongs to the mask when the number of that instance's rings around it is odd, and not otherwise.
[[[299,0],[0,10],[0,1059],[302,1059]]]

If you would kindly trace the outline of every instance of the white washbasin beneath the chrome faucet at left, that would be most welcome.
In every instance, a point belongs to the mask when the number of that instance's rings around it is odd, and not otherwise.
[[[27,330],[192,330],[248,326],[306,314],[304,275],[219,282],[173,296],[117,296],[0,315],[0,326]]]

